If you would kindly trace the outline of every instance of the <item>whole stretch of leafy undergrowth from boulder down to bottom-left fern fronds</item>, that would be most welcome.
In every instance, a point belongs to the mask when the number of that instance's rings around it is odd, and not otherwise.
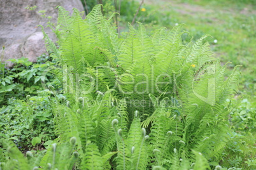
[[[41,86],[42,82],[46,84],[48,81],[54,84],[52,74],[45,69],[55,62],[48,55],[41,55],[37,60],[32,63],[24,57],[11,59],[13,67],[1,72],[4,78],[0,85],[0,136],[14,140],[22,151],[34,148],[31,145],[34,137],[39,136],[42,142],[55,138],[49,93],[42,91]],[[44,148],[41,142],[37,148]]]

